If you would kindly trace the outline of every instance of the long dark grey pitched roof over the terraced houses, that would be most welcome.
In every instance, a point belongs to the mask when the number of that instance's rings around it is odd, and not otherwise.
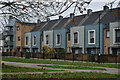
[[[45,31],[52,29],[64,29],[75,26],[91,25],[100,23],[109,25],[110,22],[116,22],[120,20],[120,15],[115,15],[115,13],[120,14],[120,8],[110,9],[107,13],[103,11],[93,12],[91,15],[79,15],[74,18],[63,18],[62,20],[56,19],[49,22],[41,22],[40,27],[36,26],[32,31]]]

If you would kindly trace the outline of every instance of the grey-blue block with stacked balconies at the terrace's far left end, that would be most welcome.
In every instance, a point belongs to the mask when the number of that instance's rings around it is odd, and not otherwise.
[[[10,16],[8,21],[9,23],[5,26],[5,29],[3,31],[4,50],[11,52],[15,47],[15,29],[14,28],[15,28],[17,19]]]

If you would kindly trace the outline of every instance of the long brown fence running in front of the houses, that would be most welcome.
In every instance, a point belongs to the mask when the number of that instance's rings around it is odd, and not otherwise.
[[[97,55],[97,54],[72,54],[72,53],[59,53],[59,54],[45,54],[45,53],[2,53],[2,56],[16,56],[26,58],[39,58],[39,59],[62,59],[73,61],[87,61],[87,62],[101,62],[101,63],[120,63],[120,54],[114,56],[109,55]]]

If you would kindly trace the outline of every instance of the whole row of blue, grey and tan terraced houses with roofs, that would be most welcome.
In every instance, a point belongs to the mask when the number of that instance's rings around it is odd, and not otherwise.
[[[10,17],[6,27],[6,51],[43,52],[43,46],[48,46],[76,54],[120,53],[120,8],[37,23]]]

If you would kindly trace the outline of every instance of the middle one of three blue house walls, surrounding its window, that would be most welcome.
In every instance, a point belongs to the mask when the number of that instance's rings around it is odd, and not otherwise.
[[[56,45],[56,34],[61,34],[61,44]],[[54,48],[64,48],[67,52],[67,30],[66,29],[59,29],[54,30]]]

